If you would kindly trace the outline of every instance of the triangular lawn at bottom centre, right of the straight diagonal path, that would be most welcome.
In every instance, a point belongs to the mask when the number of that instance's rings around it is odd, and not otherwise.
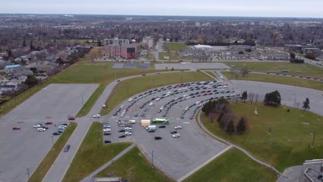
[[[158,168],[152,169],[137,146],[97,174],[97,177],[104,176],[121,176],[128,181],[173,181]]]

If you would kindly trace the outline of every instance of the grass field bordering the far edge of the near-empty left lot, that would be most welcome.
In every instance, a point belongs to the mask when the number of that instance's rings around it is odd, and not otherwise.
[[[157,72],[150,69],[114,69],[112,65],[114,63],[88,63],[88,62],[79,62],[71,65],[66,68],[59,74],[54,77],[50,77],[44,83],[36,85],[25,92],[17,95],[15,99],[11,99],[10,101],[0,105],[0,116],[10,112],[13,108],[15,108],[23,101],[26,101],[33,94],[39,92],[41,88],[45,88],[50,83],[101,83],[104,85],[108,85],[111,81],[118,79],[120,77],[128,77],[130,75],[149,73],[149,72]],[[101,87],[97,88],[101,89]],[[92,97],[90,97],[89,101],[92,101]],[[87,108],[82,108],[81,110],[89,110],[88,108],[92,108],[92,105],[85,104]]]

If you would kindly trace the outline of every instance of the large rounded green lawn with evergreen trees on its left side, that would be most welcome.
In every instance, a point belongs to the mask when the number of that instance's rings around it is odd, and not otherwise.
[[[323,158],[323,117],[311,112],[304,112],[287,107],[279,108],[257,105],[258,115],[254,114],[256,105],[238,102],[231,104],[237,119],[248,117],[250,128],[245,134],[228,136],[228,141],[235,143],[258,159],[270,163],[281,172],[293,165],[301,165],[305,160]],[[202,122],[210,132],[225,138],[217,122],[201,115]],[[304,124],[309,123],[309,125]],[[313,133],[316,132],[313,148]]]

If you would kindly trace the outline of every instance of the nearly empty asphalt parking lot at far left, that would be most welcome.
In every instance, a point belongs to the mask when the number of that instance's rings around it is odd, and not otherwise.
[[[59,124],[68,123],[68,115],[77,114],[81,96],[85,103],[95,88],[95,84],[51,84],[1,117],[0,181],[27,181],[28,170],[31,175],[59,137],[52,133]],[[46,125],[45,132],[33,128],[47,121],[53,124]]]

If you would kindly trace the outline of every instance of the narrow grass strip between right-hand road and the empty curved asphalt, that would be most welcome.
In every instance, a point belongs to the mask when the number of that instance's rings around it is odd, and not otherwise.
[[[235,76],[231,77],[230,72],[222,72],[224,76],[228,79],[235,79]],[[270,83],[280,83],[284,85],[295,85],[297,87],[304,87],[304,88],[313,88],[316,90],[323,90],[323,82],[322,81],[315,81],[309,79],[299,79],[294,77],[283,77],[283,76],[275,76],[270,74],[255,74],[249,73],[246,77],[242,77],[240,75],[237,77],[238,80],[247,80],[247,81],[263,81],[263,82],[270,82]]]

